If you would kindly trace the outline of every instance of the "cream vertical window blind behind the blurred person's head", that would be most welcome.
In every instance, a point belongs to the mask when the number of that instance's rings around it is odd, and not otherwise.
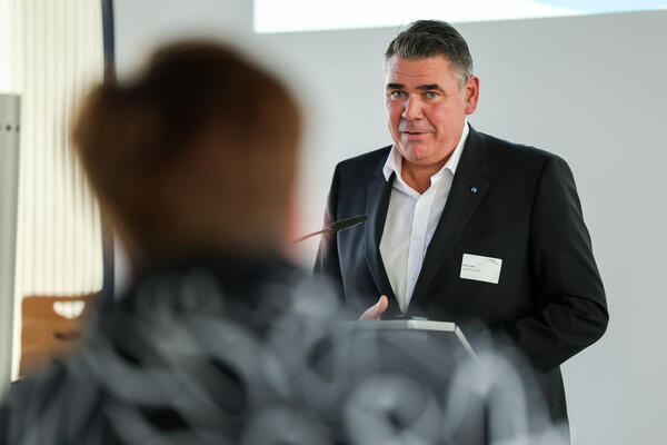
[[[0,11],[3,81],[21,96],[16,376],[22,298],[102,284],[100,215],[69,140],[77,103],[102,79],[102,17],[94,0],[0,0]]]

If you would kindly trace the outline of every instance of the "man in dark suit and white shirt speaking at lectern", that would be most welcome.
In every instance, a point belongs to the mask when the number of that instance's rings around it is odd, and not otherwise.
[[[469,126],[479,79],[449,24],[417,21],[385,56],[394,145],[336,167],[326,219],[368,220],[325,237],[316,270],[361,319],[485,326],[529,360],[551,418],[567,423],[559,365],[608,320],[571,171]]]

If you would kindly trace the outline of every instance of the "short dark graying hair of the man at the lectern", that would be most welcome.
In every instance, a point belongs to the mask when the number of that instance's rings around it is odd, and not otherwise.
[[[444,56],[451,63],[461,88],[472,76],[472,57],[468,43],[451,24],[445,21],[414,21],[408,29],[391,40],[385,51],[385,62],[395,55],[408,60]]]

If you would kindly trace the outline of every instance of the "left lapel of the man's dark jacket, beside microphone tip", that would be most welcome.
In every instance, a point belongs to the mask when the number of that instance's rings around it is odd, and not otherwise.
[[[400,309],[396,301],[391,284],[387,276],[387,270],[380,257],[380,240],[385,230],[385,220],[387,219],[387,209],[389,208],[389,198],[391,196],[391,187],[394,184],[395,174],[391,174],[389,180],[385,179],[382,174],[382,165],[376,170],[374,180],[368,185],[366,199],[366,261],[368,268],[378,288],[378,298],[381,294],[389,298],[389,307],[385,313],[387,316],[396,316],[400,314]]]

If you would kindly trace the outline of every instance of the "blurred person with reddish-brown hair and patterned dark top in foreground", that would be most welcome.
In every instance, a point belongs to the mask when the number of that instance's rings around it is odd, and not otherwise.
[[[511,414],[491,416],[505,443],[548,422],[507,363],[480,354],[485,377],[438,344],[358,335],[283,259],[300,126],[273,76],[216,43],[88,96],[77,155],[136,276],[78,354],[12,387],[0,443],[482,444],[487,399]]]

